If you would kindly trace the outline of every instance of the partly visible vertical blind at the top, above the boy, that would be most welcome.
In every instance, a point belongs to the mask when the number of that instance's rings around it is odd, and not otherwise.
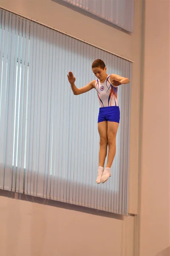
[[[57,2],[57,0],[53,0]],[[133,32],[134,0],[62,0]]]

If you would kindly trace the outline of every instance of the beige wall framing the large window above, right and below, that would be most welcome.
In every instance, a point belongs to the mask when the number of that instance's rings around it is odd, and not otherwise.
[[[129,210],[137,213],[141,0],[135,1],[135,25],[134,33],[131,35],[74,12],[51,0],[0,0],[0,6],[134,61],[131,96]],[[99,32],[102,33],[100,38],[96,36]],[[108,36],[110,40],[105,41]],[[3,204],[3,211],[0,211],[0,215],[2,215],[0,227],[3,230],[1,236],[3,233],[5,235],[3,238],[1,237],[2,240],[0,239],[0,250],[2,250],[0,255],[21,256],[26,247],[28,249],[25,255],[28,256],[49,255],[49,248],[50,255],[57,256],[133,255],[133,217],[123,220],[103,218],[2,197],[0,205],[1,202]],[[51,221],[49,216],[52,218]],[[61,221],[61,224],[58,220]],[[74,234],[72,234],[73,231]],[[81,236],[80,231],[82,231]],[[27,240],[24,239],[24,235]],[[69,241],[70,237],[71,241]],[[105,237],[107,237],[108,243],[103,249],[101,247]],[[97,244],[99,245],[97,246]],[[89,251],[86,246],[90,248]],[[80,250],[83,251],[80,253]]]

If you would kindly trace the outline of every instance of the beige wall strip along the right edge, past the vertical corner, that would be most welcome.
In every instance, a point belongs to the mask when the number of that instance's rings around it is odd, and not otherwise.
[[[145,1],[140,256],[170,256],[170,2]]]

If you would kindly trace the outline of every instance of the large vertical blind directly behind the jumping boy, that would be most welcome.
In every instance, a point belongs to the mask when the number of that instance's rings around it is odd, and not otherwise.
[[[118,90],[121,122],[112,176],[97,185],[99,102],[95,90],[74,96],[108,73],[130,77],[131,64],[33,21],[0,10],[0,189],[128,213],[130,85]]]

